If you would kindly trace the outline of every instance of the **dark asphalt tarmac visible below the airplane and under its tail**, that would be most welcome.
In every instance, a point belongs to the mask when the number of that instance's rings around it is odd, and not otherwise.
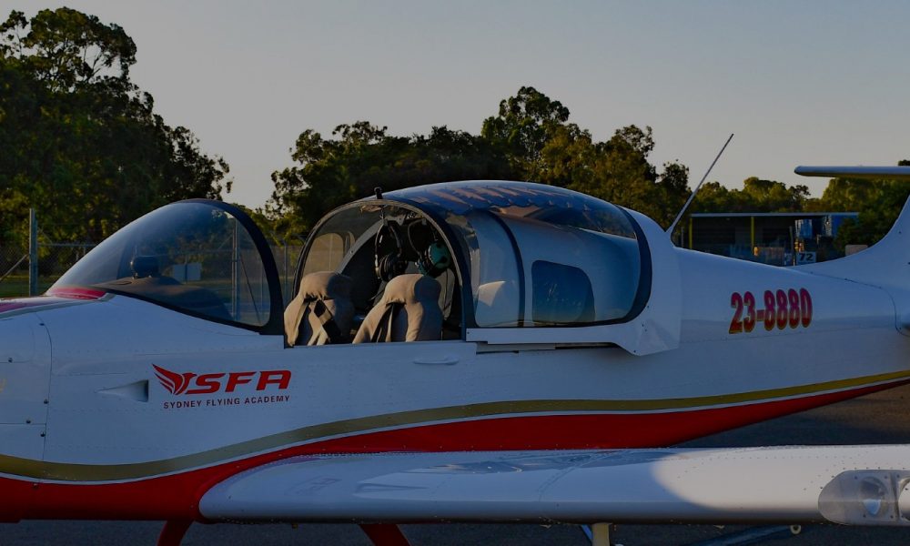
[[[910,386],[886,390],[825,408],[804,411],[742,429],[693,440],[687,447],[910,443]],[[0,546],[80,546],[155,544],[161,523],[155,521],[23,521],[0,524]],[[412,544],[461,545],[590,544],[581,528],[570,525],[406,525]],[[763,531],[710,525],[619,525],[612,540],[625,546],[696,544],[721,540],[737,531]],[[799,534],[781,528],[771,538],[751,543],[793,546],[828,544],[910,543],[910,528],[861,528],[838,525],[804,526]],[[356,525],[202,525],[194,524],[185,546],[285,544],[369,545]]]

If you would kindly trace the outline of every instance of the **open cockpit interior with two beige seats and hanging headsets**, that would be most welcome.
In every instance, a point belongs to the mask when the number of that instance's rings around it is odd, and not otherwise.
[[[446,238],[419,210],[357,203],[309,238],[289,345],[460,339],[460,282]]]

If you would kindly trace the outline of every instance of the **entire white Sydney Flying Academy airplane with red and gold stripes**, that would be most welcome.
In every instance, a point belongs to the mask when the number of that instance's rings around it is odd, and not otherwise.
[[[286,306],[242,210],[167,205],[0,300],[0,521],[910,525],[910,446],[668,447],[910,383],[908,230],[776,268],[560,187],[378,188]]]

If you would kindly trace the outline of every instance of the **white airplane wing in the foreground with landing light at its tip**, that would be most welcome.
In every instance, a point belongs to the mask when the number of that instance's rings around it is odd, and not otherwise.
[[[318,455],[240,473],[199,508],[216,521],[910,525],[908,482],[910,445]]]

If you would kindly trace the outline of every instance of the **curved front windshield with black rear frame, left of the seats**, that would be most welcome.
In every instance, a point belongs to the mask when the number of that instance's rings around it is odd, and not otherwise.
[[[258,227],[220,201],[180,201],[140,217],[86,254],[49,290],[94,288],[196,317],[282,331],[278,273]]]

